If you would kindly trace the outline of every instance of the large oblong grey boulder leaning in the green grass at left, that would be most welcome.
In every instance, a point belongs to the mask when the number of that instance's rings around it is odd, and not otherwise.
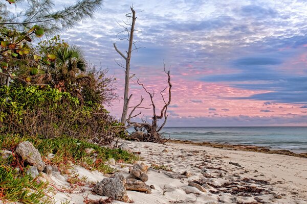
[[[16,154],[22,157],[29,164],[36,166],[39,171],[45,169],[39,151],[29,141],[21,142],[16,147]]]

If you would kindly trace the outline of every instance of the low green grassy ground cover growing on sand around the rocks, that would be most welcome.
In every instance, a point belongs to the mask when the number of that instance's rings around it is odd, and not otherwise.
[[[41,153],[42,159],[46,163],[55,164],[63,169],[69,167],[69,163],[72,162],[87,169],[112,173],[115,169],[104,165],[104,162],[109,158],[125,163],[133,163],[139,159],[137,156],[121,149],[109,149],[68,137],[45,139],[19,137],[18,135],[0,135],[0,149],[14,152],[17,144],[23,141],[30,141]],[[85,152],[86,148],[93,148],[94,151],[87,155]],[[54,158],[48,160],[47,156],[50,153],[54,154]],[[97,154],[96,161],[91,158],[94,153]],[[21,173],[18,174],[14,167],[19,167]],[[24,165],[24,161],[21,161],[15,154],[7,159],[7,161],[0,161],[0,200],[19,201],[22,203],[52,203],[52,199],[46,196],[50,192],[48,183],[31,179],[23,171],[24,168],[27,168]]]

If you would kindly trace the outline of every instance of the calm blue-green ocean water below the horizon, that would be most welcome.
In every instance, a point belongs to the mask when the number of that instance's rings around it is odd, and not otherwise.
[[[164,127],[162,132],[179,140],[307,152],[307,127]]]

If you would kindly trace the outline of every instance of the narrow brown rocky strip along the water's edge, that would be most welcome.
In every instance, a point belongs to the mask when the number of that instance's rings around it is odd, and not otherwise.
[[[255,145],[243,145],[243,144],[224,144],[224,143],[213,143],[213,142],[194,142],[190,140],[178,140],[171,139],[167,141],[168,143],[175,144],[191,144],[196,146],[209,146],[214,148],[223,148],[229,150],[242,150],[242,151],[253,151],[253,152],[262,152],[266,154],[276,154],[276,155],[287,155],[293,157],[307,158],[307,152],[295,153],[286,149],[270,149],[268,147],[261,147]]]

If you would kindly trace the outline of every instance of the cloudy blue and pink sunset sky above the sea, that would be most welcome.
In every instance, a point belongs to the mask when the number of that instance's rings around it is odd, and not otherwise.
[[[142,11],[135,40],[145,47],[133,53],[131,73],[159,93],[165,61],[173,84],[168,126],[307,125],[307,1],[105,0],[95,20],[61,36],[109,68],[120,96],[124,71],[113,43],[127,49],[117,22],[131,5]],[[133,82],[130,91],[131,105],[146,95]],[[120,117],[122,97],[109,110]]]

